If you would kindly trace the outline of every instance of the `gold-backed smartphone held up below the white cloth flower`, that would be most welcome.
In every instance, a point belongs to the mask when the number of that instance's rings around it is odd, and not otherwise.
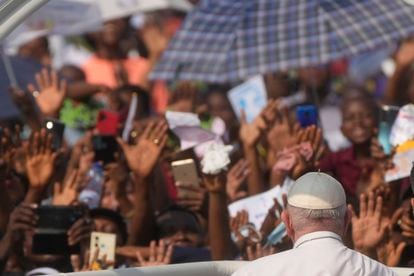
[[[177,160],[171,163],[175,182],[199,185],[197,166],[194,159]]]

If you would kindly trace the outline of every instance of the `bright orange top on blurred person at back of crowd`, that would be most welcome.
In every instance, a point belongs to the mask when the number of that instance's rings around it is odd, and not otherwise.
[[[150,71],[150,63],[146,59],[133,57],[121,62],[128,74],[129,83],[142,85],[146,81]],[[86,81],[91,84],[101,84],[111,88],[118,86],[115,77],[115,62],[112,60],[93,55],[85,62],[82,69],[85,72]]]

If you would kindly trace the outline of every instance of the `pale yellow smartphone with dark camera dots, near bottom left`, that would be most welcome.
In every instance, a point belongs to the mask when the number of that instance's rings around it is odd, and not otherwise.
[[[102,261],[103,256],[106,256],[106,261],[114,262],[115,261],[115,248],[116,248],[116,235],[110,233],[101,233],[101,232],[92,232],[91,242],[89,246],[89,263],[92,264],[92,267],[99,266],[99,261]],[[96,250],[99,249],[99,254],[96,263],[93,262],[93,258]],[[113,268],[113,266],[106,267]]]

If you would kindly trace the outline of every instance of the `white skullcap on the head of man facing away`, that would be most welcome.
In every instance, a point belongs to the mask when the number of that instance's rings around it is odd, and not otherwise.
[[[304,209],[333,209],[346,204],[344,188],[332,176],[310,172],[299,177],[288,193],[291,206]]]

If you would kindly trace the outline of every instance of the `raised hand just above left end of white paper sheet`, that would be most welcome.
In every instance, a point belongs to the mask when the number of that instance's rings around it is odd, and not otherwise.
[[[226,192],[230,201],[235,201],[247,196],[247,192],[240,190],[241,184],[249,174],[249,165],[244,159],[239,160],[227,173]]]

